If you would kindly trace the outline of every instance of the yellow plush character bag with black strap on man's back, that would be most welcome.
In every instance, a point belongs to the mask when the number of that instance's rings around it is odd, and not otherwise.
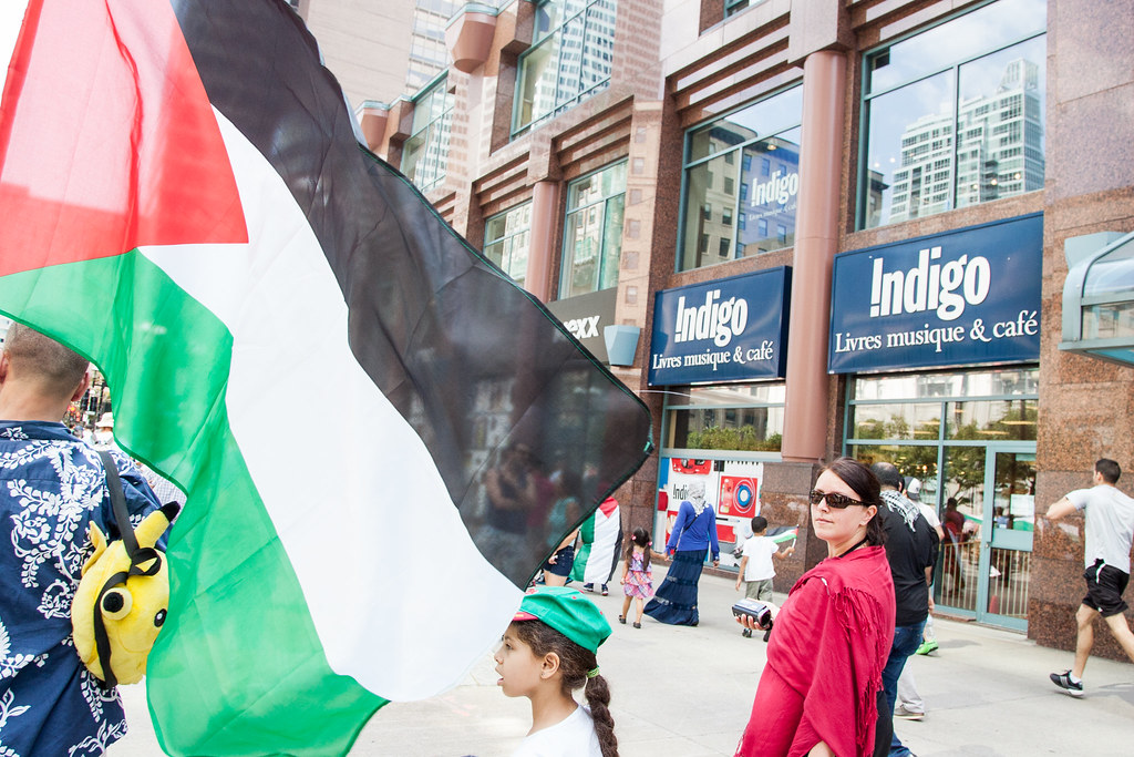
[[[124,533],[108,542],[91,523],[94,554],[83,564],[71,604],[71,630],[78,656],[108,688],[136,683],[145,675],[146,657],[169,606],[166,555],[154,545],[178,510],[171,503],[150,513],[132,532],[133,539]]]

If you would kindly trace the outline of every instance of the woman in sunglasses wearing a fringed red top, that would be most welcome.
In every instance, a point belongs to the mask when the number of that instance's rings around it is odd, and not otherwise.
[[[820,473],[810,497],[812,528],[828,557],[803,574],[775,619],[736,752],[743,757],[874,754],[895,613],[880,486],[868,466],[840,457]],[[888,748],[889,741],[887,733],[879,743]]]

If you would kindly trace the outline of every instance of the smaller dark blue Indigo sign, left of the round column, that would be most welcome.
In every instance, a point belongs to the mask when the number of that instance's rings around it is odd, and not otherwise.
[[[649,384],[782,377],[790,287],[781,266],[658,292]]]

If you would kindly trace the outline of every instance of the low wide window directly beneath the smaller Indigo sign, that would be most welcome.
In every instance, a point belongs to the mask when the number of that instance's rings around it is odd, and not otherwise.
[[[667,398],[666,447],[779,452],[784,436],[782,384],[706,386]]]

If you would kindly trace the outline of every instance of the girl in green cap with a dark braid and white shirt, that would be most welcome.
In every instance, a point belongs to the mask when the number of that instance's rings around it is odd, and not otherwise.
[[[595,653],[610,624],[575,589],[544,587],[524,597],[494,655],[497,684],[532,701],[532,730],[513,757],[618,757],[610,689]],[[586,705],[574,691],[586,687]]]

